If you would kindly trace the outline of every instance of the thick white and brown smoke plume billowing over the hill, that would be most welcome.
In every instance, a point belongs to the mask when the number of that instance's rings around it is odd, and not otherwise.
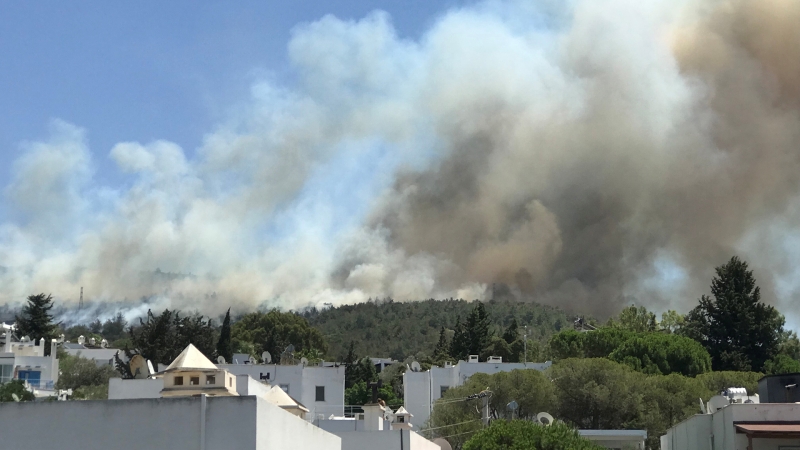
[[[800,2],[556,3],[452,10],[414,41],[382,13],[299,25],[297,85],[254,86],[191,157],[116,145],[124,189],[56,121],[5,189],[0,302],[84,286],[218,313],[507,286],[609,315],[685,309],[738,254],[788,305]]]

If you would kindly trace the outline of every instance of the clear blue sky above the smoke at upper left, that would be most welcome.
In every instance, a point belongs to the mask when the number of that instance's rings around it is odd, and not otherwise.
[[[125,179],[107,158],[114,144],[166,139],[191,155],[257,78],[290,85],[286,45],[298,24],[380,9],[401,38],[417,38],[464,3],[2,2],[0,186],[20,143],[46,135],[53,118],[87,130],[95,181],[113,186]]]

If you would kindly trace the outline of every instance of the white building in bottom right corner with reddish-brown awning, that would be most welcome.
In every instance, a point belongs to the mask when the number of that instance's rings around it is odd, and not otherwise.
[[[733,403],[661,436],[661,450],[800,449],[800,404]]]

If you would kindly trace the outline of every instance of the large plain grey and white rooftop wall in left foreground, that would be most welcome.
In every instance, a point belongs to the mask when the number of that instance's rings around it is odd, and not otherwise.
[[[256,397],[3,403],[0,424],[0,446],[15,449],[197,450],[203,432],[207,450],[340,448],[336,436]]]

